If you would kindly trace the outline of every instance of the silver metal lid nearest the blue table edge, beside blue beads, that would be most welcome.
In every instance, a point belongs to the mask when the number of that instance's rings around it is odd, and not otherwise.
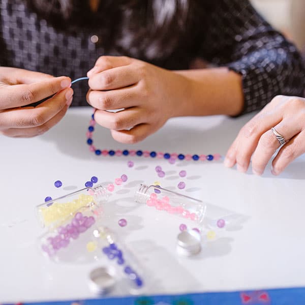
[[[116,283],[113,267],[98,267],[89,273],[89,288],[95,293],[106,294]]]

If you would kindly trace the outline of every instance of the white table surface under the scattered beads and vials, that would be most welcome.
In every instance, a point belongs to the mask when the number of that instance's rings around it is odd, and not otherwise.
[[[89,108],[70,109],[67,116],[43,136],[32,139],[0,137],[0,302],[90,298],[90,269],[101,262],[54,263],[41,255],[37,237],[43,232],[34,207],[83,187],[92,175],[100,182],[126,173],[129,180],[110,198],[114,226],[120,218],[128,226],[117,230],[137,253],[151,278],[149,293],[185,293],[279,288],[305,285],[304,187],[305,158],[300,157],[278,177],[268,165],[262,177],[241,174],[221,162],[165,160],[143,157],[102,157],[88,151],[85,132]],[[251,115],[176,118],[134,149],[169,153],[225,155],[240,127]],[[105,149],[133,149],[116,143],[97,128],[95,143]],[[133,160],[135,166],[127,167]],[[161,165],[165,178],[158,178]],[[133,202],[135,187],[160,180],[175,190],[187,170],[181,192],[209,202],[207,217],[239,216],[238,223],[222,229],[215,241],[203,244],[193,258],[175,252],[180,219]],[[64,185],[55,189],[60,179]],[[66,188],[66,190],[65,190]],[[119,294],[119,293],[118,293]]]

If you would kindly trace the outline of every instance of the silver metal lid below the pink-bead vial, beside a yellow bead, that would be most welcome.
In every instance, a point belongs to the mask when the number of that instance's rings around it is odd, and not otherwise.
[[[182,231],[177,236],[177,253],[184,256],[198,254],[201,251],[201,236],[194,230]]]

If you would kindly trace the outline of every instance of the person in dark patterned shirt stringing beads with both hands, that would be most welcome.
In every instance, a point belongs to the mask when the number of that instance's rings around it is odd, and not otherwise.
[[[86,96],[97,123],[124,143],[173,116],[235,116],[301,94],[300,55],[246,0],[2,0],[1,18],[0,64],[11,70],[0,68],[0,96],[14,102],[0,98],[0,130],[9,136],[48,130],[70,104],[68,84],[52,101],[18,108],[66,86],[29,71],[74,78],[94,66],[73,105]],[[195,58],[215,67],[188,70]]]

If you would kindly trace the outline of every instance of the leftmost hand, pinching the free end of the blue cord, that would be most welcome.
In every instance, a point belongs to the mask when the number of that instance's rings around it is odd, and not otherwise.
[[[33,137],[48,131],[71,105],[70,85],[71,79],[65,76],[0,67],[0,133]],[[37,107],[22,107],[52,95]]]

